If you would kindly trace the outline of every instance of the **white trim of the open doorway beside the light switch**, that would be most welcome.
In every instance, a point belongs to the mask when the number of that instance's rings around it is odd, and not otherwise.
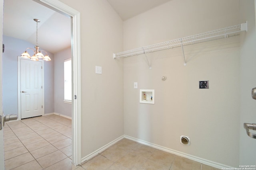
[[[72,18],[72,54],[73,54],[73,96],[72,100],[72,163],[81,163],[81,47],[80,47],[80,12],[59,0],[34,0],[62,12]]]

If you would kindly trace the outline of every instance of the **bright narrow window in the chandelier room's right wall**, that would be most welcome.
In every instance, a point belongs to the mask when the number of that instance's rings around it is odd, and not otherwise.
[[[72,102],[72,62],[64,60],[64,102]]]

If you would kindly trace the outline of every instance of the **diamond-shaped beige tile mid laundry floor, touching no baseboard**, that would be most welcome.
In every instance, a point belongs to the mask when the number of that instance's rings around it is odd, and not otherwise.
[[[138,156],[134,153],[128,152],[122,158],[116,161],[116,163],[130,169],[130,170],[137,170],[142,166],[142,164],[146,162],[146,158],[142,156]]]

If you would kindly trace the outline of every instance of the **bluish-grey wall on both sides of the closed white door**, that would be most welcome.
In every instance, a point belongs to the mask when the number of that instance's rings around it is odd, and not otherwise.
[[[3,109],[5,114],[18,115],[18,56],[21,55],[27,47],[34,47],[33,44],[13,37],[3,36],[5,51],[3,53]],[[54,111],[53,105],[53,55],[48,54],[52,61],[44,62],[44,98],[45,113]]]

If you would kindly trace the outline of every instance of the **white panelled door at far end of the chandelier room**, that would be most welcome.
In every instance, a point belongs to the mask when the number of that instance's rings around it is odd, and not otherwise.
[[[20,60],[21,119],[41,116],[42,61]]]

